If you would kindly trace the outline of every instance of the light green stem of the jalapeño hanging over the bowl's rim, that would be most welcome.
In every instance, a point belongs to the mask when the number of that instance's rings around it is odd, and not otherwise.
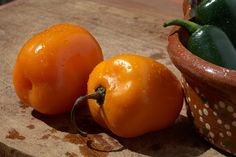
[[[194,33],[197,29],[201,27],[201,25],[194,23],[192,21],[184,20],[184,19],[174,19],[170,21],[166,21],[164,23],[164,27],[178,25],[186,28],[191,34]]]

